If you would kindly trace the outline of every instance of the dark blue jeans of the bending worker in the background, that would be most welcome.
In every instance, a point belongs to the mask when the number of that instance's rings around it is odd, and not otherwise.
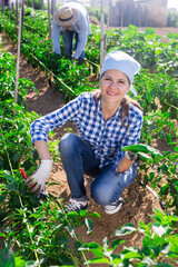
[[[79,42],[79,34],[76,31],[70,31],[70,30],[65,30],[62,31],[62,38],[65,42],[65,57],[66,58],[71,58],[72,56],[72,48],[73,48],[73,37],[76,36],[76,46],[75,49],[77,48],[77,44]],[[80,55],[78,58],[78,63],[81,65],[83,63],[85,60],[85,51]]]

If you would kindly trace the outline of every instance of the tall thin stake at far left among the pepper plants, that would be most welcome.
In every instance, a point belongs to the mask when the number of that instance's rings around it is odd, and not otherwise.
[[[21,41],[22,6],[23,6],[23,1],[21,0],[20,3],[19,3],[20,17],[19,17],[19,33],[18,33],[18,55],[17,55],[14,103],[17,103],[17,101],[18,101],[18,79],[19,79],[19,61],[20,61],[20,41]],[[16,115],[16,109],[14,109],[14,115]]]

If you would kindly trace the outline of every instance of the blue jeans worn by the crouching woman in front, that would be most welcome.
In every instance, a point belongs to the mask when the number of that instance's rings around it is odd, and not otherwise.
[[[113,164],[99,169],[99,159],[95,157],[90,145],[75,134],[66,134],[61,138],[59,150],[68,185],[75,198],[87,198],[85,174],[95,177],[90,186],[91,197],[102,206],[110,205],[121,197],[123,189],[136,178],[135,165],[122,174],[116,171]]]

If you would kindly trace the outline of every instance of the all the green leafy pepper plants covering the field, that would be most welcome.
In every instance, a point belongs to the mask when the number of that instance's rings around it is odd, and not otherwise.
[[[100,28],[92,26],[92,36],[86,47],[82,66],[53,53],[49,38],[46,11],[24,10],[21,52],[33,68],[44,71],[49,83],[62,92],[67,102],[99,85]],[[0,17],[0,30],[17,43],[14,13]],[[38,155],[30,141],[29,126],[38,113],[28,112],[24,96],[37,90],[27,79],[19,79],[18,102],[14,103],[16,59],[0,50],[0,267],[24,266],[90,266],[105,264],[122,267],[170,267],[178,264],[178,34],[169,33],[168,42],[160,41],[154,29],[139,32],[137,27],[109,30],[108,51],[119,49],[134,56],[142,66],[136,77],[134,97],[144,109],[141,144],[152,146],[157,140],[169,149],[161,151],[157,164],[142,165],[139,171],[144,186],[157,191],[165,204],[150,215],[151,222],[140,226],[126,224],[115,233],[115,240],[86,243],[77,230],[85,226],[92,235],[93,219],[98,212],[65,214],[62,200],[50,195],[48,201],[37,198],[23,186],[20,169],[30,175],[38,162]],[[14,115],[16,110],[16,115]],[[50,134],[51,138],[53,132]],[[49,142],[53,159],[58,151]],[[49,184],[47,185],[49,186]],[[125,235],[138,231],[141,248],[116,249],[125,243]]]

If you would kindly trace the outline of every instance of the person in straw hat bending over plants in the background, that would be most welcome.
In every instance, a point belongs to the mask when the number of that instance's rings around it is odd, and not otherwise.
[[[76,38],[76,53],[73,59],[81,65],[85,60],[85,46],[91,34],[88,12],[80,3],[69,2],[59,8],[52,20],[52,44],[55,52],[61,55],[60,32],[65,42],[65,57],[72,57],[73,38]]]

